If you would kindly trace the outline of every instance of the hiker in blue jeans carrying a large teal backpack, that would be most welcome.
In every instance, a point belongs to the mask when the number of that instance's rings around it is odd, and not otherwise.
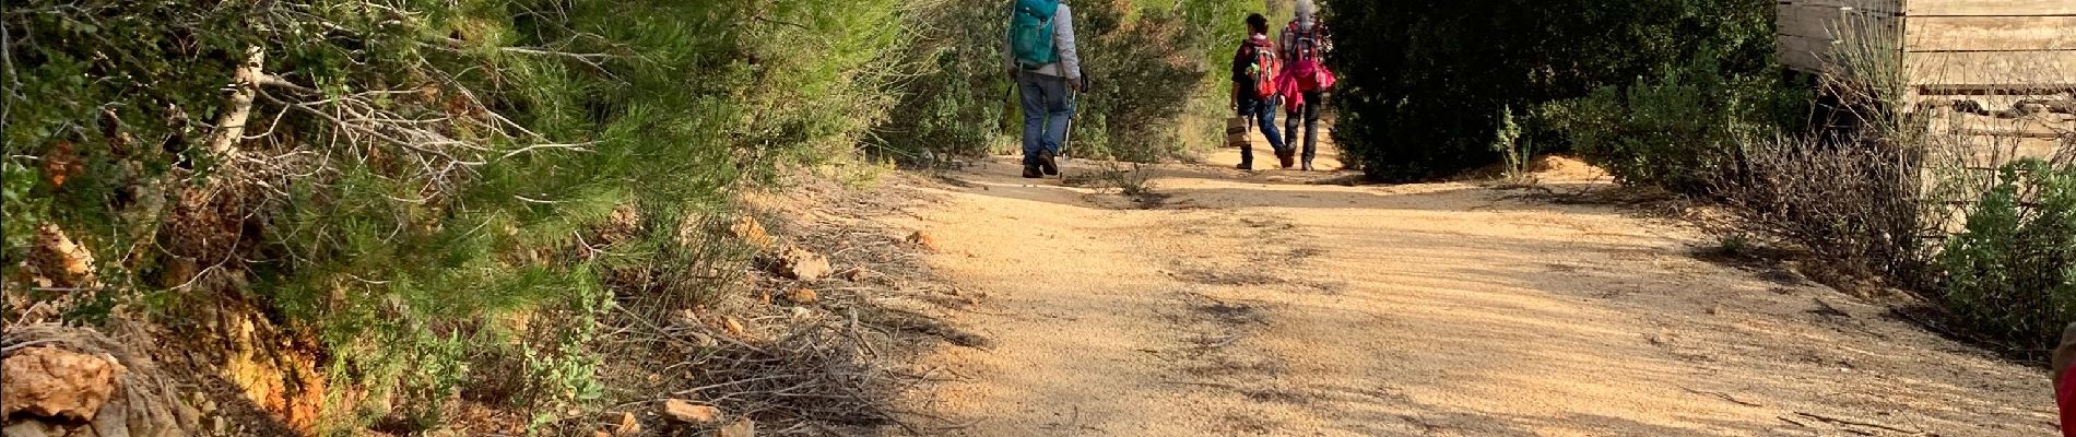
[[[1023,108],[1023,178],[1059,174],[1059,149],[1073,116],[1071,91],[1086,91],[1073,43],[1073,8],[1059,0],[1013,0],[1009,79]]]

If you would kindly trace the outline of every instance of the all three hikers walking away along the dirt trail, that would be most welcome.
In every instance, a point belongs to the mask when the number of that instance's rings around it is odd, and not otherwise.
[[[1233,54],[1229,108],[1260,122],[1281,168],[1312,170],[1318,155],[1318,106],[1333,87],[1324,66],[1331,48],[1318,6],[1298,0],[1281,35],[1268,37],[1268,19],[1248,14],[1248,37]],[[1009,19],[1009,79],[1023,110],[1023,178],[1059,174],[1059,153],[1073,120],[1073,93],[1088,91],[1073,39],[1073,8],[1059,0],[1015,0]],[[1277,128],[1277,108],[1287,112]],[[1302,162],[1298,141],[1304,139]],[[1254,147],[1239,147],[1239,170],[1254,170]]]

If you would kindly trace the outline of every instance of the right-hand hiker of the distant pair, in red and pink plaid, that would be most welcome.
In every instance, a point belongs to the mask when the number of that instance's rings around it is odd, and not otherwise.
[[[1283,68],[1295,89],[1285,89],[1283,143],[1298,147],[1300,118],[1304,122],[1304,170],[1312,172],[1312,157],[1318,155],[1318,110],[1333,87],[1333,72],[1327,70],[1324,54],[1331,48],[1327,25],[1318,23],[1318,6],[1312,0],[1298,0],[1295,17],[1277,37],[1283,48]]]

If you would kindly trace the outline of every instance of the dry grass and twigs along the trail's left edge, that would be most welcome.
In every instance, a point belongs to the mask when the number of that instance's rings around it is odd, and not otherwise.
[[[909,178],[909,176],[893,176]],[[884,186],[913,186],[899,180]],[[604,375],[617,402],[608,412],[648,412],[679,398],[720,408],[727,420],[752,418],[760,435],[872,435],[884,429],[920,433],[899,418],[895,396],[928,381],[903,373],[903,362],[938,344],[986,346],[988,340],[951,327],[897,302],[957,296],[922,263],[920,246],[895,238],[882,217],[909,213],[928,201],[916,191],[851,191],[808,182],[760,209],[774,236],[830,259],[835,273],[816,282],[776,278],[739,265],[725,292],[625,311]],[[785,292],[814,290],[812,302]],[[683,304],[664,311],[666,307]],[[945,304],[955,307],[955,304]],[[737,329],[741,327],[741,329]],[[652,429],[695,431],[644,416]],[[563,420],[567,435],[600,429],[590,418]]]

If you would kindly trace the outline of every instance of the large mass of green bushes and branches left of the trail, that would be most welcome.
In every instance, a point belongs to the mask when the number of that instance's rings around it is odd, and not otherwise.
[[[695,211],[884,120],[899,6],[10,2],[4,278],[54,224],[100,261],[91,302],[257,302],[370,394],[332,427],[430,427],[486,369],[563,412],[602,396],[604,271],[687,265],[662,249]],[[289,85],[230,159],[203,143],[249,48]]]

